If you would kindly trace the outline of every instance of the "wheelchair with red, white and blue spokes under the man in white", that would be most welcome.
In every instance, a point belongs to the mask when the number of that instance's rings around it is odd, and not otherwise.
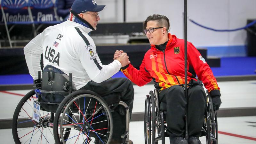
[[[114,95],[111,100],[89,90],[74,89],[69,76],[52,66],[44,68],[42,79],[34,80],[34,90],[17,105],[12,119],[16,144],[108,144],[113,134],[111,112],[118,105],[126,111],[126,130],[121,136],[129,143],[129,108]],[[115,100],[115,101],[113,101]]]

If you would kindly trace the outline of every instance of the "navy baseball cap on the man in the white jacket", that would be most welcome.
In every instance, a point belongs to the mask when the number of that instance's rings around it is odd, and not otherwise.
[[[75,0],[71,6],[71,10],[78,13],[83,12],[100,12],[105,5],[97,5],[95,0]]]

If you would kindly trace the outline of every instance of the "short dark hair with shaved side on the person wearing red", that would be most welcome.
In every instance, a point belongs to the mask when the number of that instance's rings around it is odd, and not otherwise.
[[[143,29],[146,29],[147,23],[150,20],[156,20],[157,23],[159,24],[159,27],[165,27],[166,30],[169,31],[170,22],[169,22],[169,19],[166,16],[160,15],[160,14],[153,14],[153,15],[148,16],[147,19],[143,23]]]

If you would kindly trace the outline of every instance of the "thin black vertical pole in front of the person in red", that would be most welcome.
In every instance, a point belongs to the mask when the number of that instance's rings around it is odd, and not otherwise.
[[[188,68],[187,68],[187,0],[184,0],[184,46],[185,46],[185,96],[186,106],[186,133],[185,139],[188,140]]]

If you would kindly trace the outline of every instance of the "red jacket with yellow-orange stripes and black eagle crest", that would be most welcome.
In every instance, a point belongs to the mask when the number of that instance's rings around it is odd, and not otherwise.
[[[155,86],[161,90],[172,85],[185,84],[184,39],[179,39],[170,33],[168,37],[169,41],[164,51],[151,45],[151,49],[144,55],[140,70],[129,64],[127,68],[121,69],[124,75],[138,86],[143,86],[153,79]],[[191,79],[196,80],[197,75],[209,92],[220,90],[204,58],[193,44],[190,42],[187,44],[188,82]]]

